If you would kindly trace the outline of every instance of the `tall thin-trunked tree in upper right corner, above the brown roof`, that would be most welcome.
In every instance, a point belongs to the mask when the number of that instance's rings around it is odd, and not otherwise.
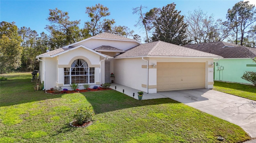
[[[250,26],[256,21],[255,6],[249,4],[249,1],[240,1],[232,9],[228,9],[225,25],[232,28],[235,33],[235,42],[238,42],[238,36],[241,34],[240,45],[243,45],[244,34],[250,32]]]

